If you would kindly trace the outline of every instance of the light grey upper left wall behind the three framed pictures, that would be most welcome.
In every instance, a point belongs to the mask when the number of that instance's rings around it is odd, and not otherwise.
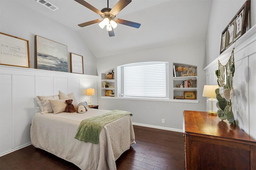
[[[70,53],[82,55],[84,74],[97,75],[96,57],[78,33],[30,8],[19,5],[18,1],[0,0],[0,32],[29,41],[30,68],[35,68],[34,36],[39,35],[66,45],[68,47],[68,63],[70,63]],[[70,72],[70,64],[68,64],[68,71]]]

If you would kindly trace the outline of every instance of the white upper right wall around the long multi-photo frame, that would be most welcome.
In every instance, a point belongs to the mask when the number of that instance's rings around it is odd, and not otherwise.
[[[206,64],[220,55],[222,31],[240,10],[246,0],[213,0],[206,36]],[[256,0],[251,0],[251,27],[256,24]]]

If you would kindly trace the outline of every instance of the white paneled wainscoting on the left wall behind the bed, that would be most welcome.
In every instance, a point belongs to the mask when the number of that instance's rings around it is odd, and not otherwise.
[[[35,96],[73,92],[78,102],[89,102],[85,88],[97,92],[98,76],[0,65],[0,156],[31,145],[30,124]],[[82,100],[81,100],[82,99]],[[93,96],[97,104],[97,95]]]

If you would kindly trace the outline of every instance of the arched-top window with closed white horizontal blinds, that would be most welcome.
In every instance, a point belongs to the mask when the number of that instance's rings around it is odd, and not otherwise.
[[[146,62],[122,66],[122,93],[127,97],[168,98],[168,63]]]

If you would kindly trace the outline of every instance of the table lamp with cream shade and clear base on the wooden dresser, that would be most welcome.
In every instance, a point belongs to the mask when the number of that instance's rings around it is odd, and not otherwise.
[[[218,89],[218,85],[204,85],[203,97],[209,98],[207,100],[207,113],[209,115],[217,115],[218,108],[216,107],[217,99],[215,90]]]

